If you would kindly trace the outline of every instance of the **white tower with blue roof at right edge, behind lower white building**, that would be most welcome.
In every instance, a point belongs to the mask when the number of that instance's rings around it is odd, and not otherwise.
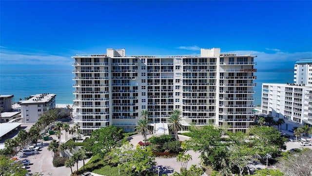
[[[293,82],[297,85],[312,86],[312,58],[296,61]]]

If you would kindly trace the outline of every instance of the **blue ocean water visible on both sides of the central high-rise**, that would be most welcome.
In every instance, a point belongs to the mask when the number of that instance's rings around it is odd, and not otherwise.
[[[0,94],[13,94],[14,102],[29,95],[40,93],[57,94],[57,104],[73,104],[73,68],[0,69]],[[259,71],[259,70],[258,70]],[[256,72],[254,81],[254,105],[261,104],[262,83],[292,83],[293,71]]]

